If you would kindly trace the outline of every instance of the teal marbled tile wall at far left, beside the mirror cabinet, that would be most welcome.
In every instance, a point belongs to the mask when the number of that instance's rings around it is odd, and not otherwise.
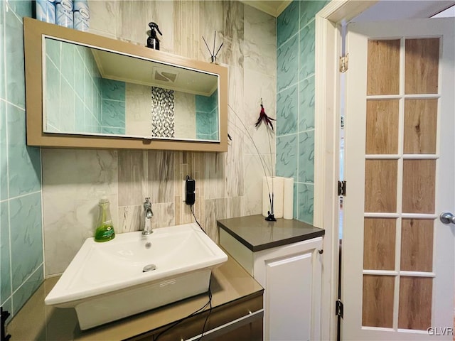
[[[31,11],[32,1],[0,0],[0,304],[11,317],[43,282],[41,150],[26,145],[22,18]]]

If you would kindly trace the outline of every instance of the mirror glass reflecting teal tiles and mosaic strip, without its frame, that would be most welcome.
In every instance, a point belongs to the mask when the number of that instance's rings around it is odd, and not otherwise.
[[[218,75],[45,37],[46,133],[220,141]]]

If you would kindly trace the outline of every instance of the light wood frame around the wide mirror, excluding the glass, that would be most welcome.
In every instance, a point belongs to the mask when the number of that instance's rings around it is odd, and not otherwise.
[[[228,151],[228,68],[191,60],[189,58],[152,50],[122,40],[115,40],[92,33],[45,23],[33,18],[23,18],[23,43],[26,76],[26,130],[28,146],[64,148],[128,148],[161,149],[174,151]],[[185,141],[178,139],[147,139],[131,136],[95,136],[82,134],[55,134],[43,132],[43,36],[71,40],[119,52],[133,57],[145,58],[158,63],[181,66],[219,77],[220,141]]]

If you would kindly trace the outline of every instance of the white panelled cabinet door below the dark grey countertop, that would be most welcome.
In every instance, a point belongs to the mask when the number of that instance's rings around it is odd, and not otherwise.
[[[318,340],[322,238],[266,250],[255,259],[264,286],[264,340]]]

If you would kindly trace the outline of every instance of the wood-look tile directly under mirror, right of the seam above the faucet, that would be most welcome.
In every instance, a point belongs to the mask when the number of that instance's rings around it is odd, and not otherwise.
[[[148,151],[148,192],[151,202],[173,202],[175,186],[173,178],[175,158],[173,151]]]

